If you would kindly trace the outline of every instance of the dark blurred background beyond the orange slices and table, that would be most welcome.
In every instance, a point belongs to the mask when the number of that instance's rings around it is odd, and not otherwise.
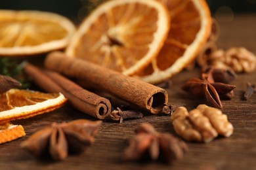
[[[1,0],[0,9],[45,10],[82,20],[88,12],[104,0]],[[212,16],[219,21],[230,21],[235,14],[256,12],[256,0],[206,0]],[[219,18],[226,14],[228,17]],[[256,18],[255,18],[256,20]]]

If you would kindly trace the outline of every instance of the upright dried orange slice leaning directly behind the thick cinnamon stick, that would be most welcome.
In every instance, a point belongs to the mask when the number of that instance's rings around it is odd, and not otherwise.
[[[66,54],[131,75],[156,57],[169,24],[158,1],[107,1],[83,20]]]

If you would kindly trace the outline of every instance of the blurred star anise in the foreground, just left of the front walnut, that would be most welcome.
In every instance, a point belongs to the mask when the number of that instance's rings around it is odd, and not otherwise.
[[[161,159],[172,163],[181,160],[188,150],[186,143],[168,133],[158,133],[151,124],[142,123],[125,150],[125,160]]]

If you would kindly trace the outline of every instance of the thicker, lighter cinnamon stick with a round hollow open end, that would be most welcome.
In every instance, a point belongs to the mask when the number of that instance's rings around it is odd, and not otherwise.
[[[94,84],[153,114],[161,112],[168,102],[165,90],[131,76],[122,75],[88,61],[70,58],[62,52],[52,52],[45,58],[45,67]]]

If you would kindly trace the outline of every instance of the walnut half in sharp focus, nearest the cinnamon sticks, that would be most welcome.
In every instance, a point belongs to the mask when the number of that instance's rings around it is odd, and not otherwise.
[[[176,133],[186,141],[209,143],[218,135],[229,137],[234,130],[226,114],[207,105],[198,105],[190,112],[185,107],[178,107],[171,121]]]

